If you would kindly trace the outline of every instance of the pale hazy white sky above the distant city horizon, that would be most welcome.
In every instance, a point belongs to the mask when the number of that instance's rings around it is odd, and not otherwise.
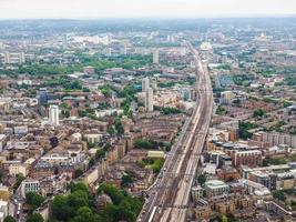
[[[0,0],[0,18],[295,14],[296,0]]]

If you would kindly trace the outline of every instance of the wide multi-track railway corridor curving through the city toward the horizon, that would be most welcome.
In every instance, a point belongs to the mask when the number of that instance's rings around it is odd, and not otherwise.
[[[137,222],[182,222],[186,219],[191,186],[213,111],[213,90],[207,69],[200,53],[190,43],[196,69],[198,99],[194,112],[165,160],[164,167],[150,189]]]

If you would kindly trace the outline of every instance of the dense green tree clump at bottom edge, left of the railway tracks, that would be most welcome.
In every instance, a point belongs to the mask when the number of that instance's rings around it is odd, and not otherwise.
[[[125,191],[102,183],[98,194],[108,194],[112,203],[98,211],[95,195],[89,193],[84,183],[72,183],[69,195],[58,195],[52,204],[52,222],[134,222],[142,209],[143,201],[129,195]]]

